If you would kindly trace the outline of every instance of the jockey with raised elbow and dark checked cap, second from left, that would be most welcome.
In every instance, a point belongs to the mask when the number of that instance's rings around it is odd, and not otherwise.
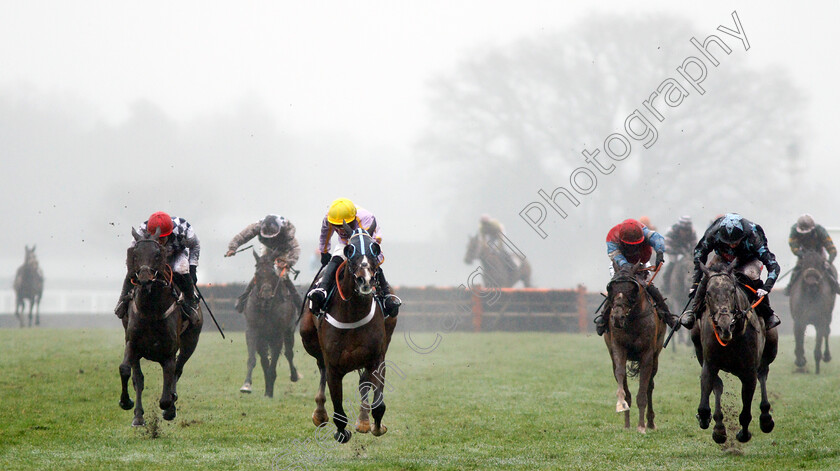
[[[283,275],[283,270],[294,266],[300,258],[300,244],[295,238],[295,225],[282,216],[269,214],[259,221],[249,224],[248,227],[242,229],[242,232],[236,234],[228,244],[225,257],[236,255],[236,249],[254,237],[263,244],[266,250],[277,254],[277,259],[274,264],[275,271],[277,275],[282,275],[283,284],[289,296],[292,298],[292,302],[296,306],[300,306],[303,301],[300,299],[297,288],[295,288],[294,283],[292,283],[288,275]],[[245,292],[239,295],[235,306],[238,312],[245,311],[245,301],[251,294],[251,290],[254,289],[255,284],[256,280],[251,278],[251,281],[245,288]]]

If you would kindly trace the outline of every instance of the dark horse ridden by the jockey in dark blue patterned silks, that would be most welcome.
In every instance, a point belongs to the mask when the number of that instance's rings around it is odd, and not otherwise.
[[[723,381],[718,372],[721,370],[741,380],[742,408],[738,416],[741,430],[736,435],[738,441],[744,443],[752,438],[749,431],[752,421],[750,409],[756,382],[761,385],[761,431],[770,433],[775,425],[770,415],[770,401],[767,399],[767,374],[770,363],[776,358],[779,337],[777,329],[764,332],[764,320],[755,314],[747,295],[738,287],[732,274],[736,261],[726,266],[717,264],[711,269],[701,265],[706,274],[706,307],[702,319],[691,330],[697,361],[703,367],[697,420],[700,428],[709,428],[709,395],[714,391],[715,427],[712,439],[716,443],[726,442],[726,427],[720,409]]]

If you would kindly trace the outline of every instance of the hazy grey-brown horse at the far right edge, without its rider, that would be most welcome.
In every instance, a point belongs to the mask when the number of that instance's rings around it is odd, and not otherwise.
[[[803,252],[797,262],[799,275],[790,290],[790,314],[793,317],[793,336],[796,341],[794,353],[796,366],[805,367],[805,327],[808,324],[817,330],[814,345],[814,368],[820,372],[820,360],[831,361],[828,350],[828,335],[831,333],[831,312],[834,310],[834,288],[826,273],[826,259],[822,251]],[[822,345],[825,345],[825,352]]]

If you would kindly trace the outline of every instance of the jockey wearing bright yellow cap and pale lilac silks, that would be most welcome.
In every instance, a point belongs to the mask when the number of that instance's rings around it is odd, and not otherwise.
[[[335,272],[345,259],[344,247],[350,241],[353,231],[359,227],[367,230],[374,222],[376,222],[376,218],[372,213],[357,208],[352,201],[346,198],[339,198],[330,204],[327,216],[321,223],[321,238],[318,245],[321,252],[321,276],[309,293],[306,294],[306,297],[312,301],[312,312],[316,316],[323,313],[324,308],[326,308],[327,296],[335,287]],[[349,231],[345,229],[345,224],[350,229]],[[336,244],[336,247],[332,250],[332,255],[330,255],[330,239],[332,239],[333,233],[338,235],[339,243]],[[370,236],[377,243],[382,242],[378,223],[374,233]],[[380,254],[379,263],[381,264],[384,259],[384,256]],[[377,296],[382,298],[385,316],[396,317],[402,301],[394,294],[394,290],[385,280],[381,266],[377,267],[375,282],[378,285]]]

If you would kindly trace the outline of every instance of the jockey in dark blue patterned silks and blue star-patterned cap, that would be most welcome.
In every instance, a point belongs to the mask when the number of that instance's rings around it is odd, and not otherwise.
[[[752,299],[762,296],[764,300],[755,308],[755,313],[764,318],[765,330],[770,330],[781,322],[770,307],[768,294],[779,277],[779,264],[776,256],[767,248],[767,237],[764,229],[758,224],[744,219],[739,214],[727,213],[715,220],[706,230],[703,238],[694,249],[694,284],[689,295],[694,295],[694,306],[685,312],[680,319],[686,328],[694,326],[695,317],[700,317],[705,309],[706,283],[700,264],[706,264],[709,254],[714,255],[707,265],[716,262],[731,263],[736,260],[735,271],[744,275],[745,284],[755,290]],[[767,281],[761,281],[762,264],[767,267]],[[750,293],[752,294],[752,293]],[[695,313],[696,316],[695,316]]]

